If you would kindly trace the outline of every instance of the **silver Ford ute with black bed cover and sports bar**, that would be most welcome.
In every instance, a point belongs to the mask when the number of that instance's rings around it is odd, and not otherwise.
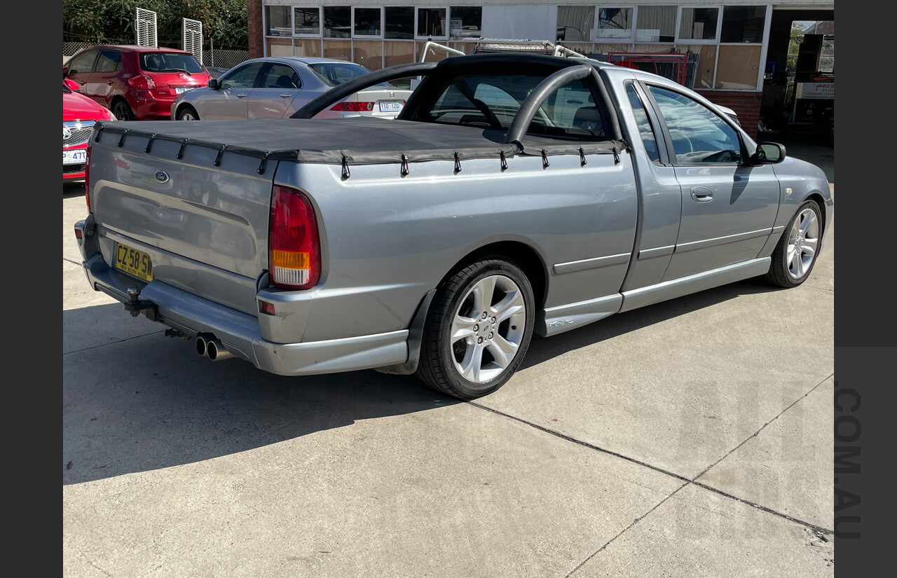
[[[396,119],[312,118],[412,76]],[[534,333],[800,286],[833,214],[820,168],[680,84],[508,53],[384,68],[290,118],[98,122],[85,197],[91,288],[199,355],[462,400],[506,384]]]

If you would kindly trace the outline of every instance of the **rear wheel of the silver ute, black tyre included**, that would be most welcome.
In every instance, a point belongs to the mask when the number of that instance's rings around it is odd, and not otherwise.
[[[467,265],[433,298],[415,377],[461,400],[494,392],[526,355],[534,317],[533,289],[516,264],[490,255]]]

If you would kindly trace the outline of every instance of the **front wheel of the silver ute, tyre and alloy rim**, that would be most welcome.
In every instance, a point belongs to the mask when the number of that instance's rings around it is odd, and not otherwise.
[[[764,279],[785,288],[803,283],[813,271],[822,240],[823,218],[819,205],[814,201],[805,201],[797,208],[779,239],[779,245],[772,252],[770,271]]]

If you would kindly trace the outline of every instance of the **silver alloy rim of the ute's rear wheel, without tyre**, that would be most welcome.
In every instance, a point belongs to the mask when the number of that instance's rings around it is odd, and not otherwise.
[[[483,384],[517,357],[527,325],[527,306],[517,283],[504,275],[479,280],[461,299],[449,337],[457,372]]]

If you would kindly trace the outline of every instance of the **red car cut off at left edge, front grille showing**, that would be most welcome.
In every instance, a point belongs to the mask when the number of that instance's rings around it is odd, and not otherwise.
[[[83,180],[87,142],[98,120],[116,120],[109,108],[76,92],[74,81],[62,82],[62,180]]]

